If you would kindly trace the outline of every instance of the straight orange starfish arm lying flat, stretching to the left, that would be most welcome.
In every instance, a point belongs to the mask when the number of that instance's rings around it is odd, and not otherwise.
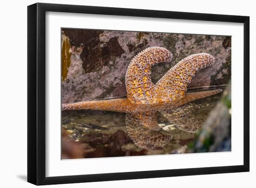
[[[106,110],[114,112],[126,112],[130,107],[125,99],[110,99],[98,101],[81,101],[71,104],[61,104],[62,110]]]

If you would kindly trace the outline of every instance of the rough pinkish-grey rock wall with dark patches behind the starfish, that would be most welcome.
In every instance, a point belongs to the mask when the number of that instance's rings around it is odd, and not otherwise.
[[[62,29],[71,44],[71,65],[62,81],[62,103],[126,97],[125,74],[132,58],[146,47],[165,47],[171,63],[152,68],[158,81],[188,55],[208,53],[216,63],[195,75],[189,87],[227,84],[231,77],[231,37],[146,32]]]

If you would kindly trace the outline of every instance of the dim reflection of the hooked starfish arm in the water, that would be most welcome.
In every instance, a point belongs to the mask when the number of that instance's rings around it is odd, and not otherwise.
[[[143,124],[133,114],[126,114],[126,128],[129,137],[135,145],[142,149],[163,147],[172,140],[172,135],[166,131],[154,131]]]

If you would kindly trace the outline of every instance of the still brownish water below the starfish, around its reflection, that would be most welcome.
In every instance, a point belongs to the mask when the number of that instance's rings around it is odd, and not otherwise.
[[[202,90],[202,88],[194,89],[193,92]],[[220,100],[221,95],[216,94],[189,103],[193,110],[187,110],[185,114],[203,123]],[[63,111],[62,159],[187,153],[189,144],[195,140],[196,133],[182,131],[181,127],[168,121],[162,113],[157,113],[157,123],[161,127],[159,132],[161,135],[170,135],[172,139],[166,141],[163,147],[141,148],[135,144],[136,140],[132,140],[128,135],[125,118],[125,113],[117,112]],[[182,118],[180,120],[182,121]],[[193,123],[195,122],[190,122],[191,125]],[[140,137],[140,134],[136,135]]]

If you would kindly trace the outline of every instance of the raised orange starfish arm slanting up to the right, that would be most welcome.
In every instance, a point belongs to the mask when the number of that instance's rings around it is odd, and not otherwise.
[[[175,101],[177,98],[182,98],[195,73],[202,68],[211,66],[214,61],[213,56],[205,53],[193,54],[184,58],[155,84],[157,97],[163,101]]]

